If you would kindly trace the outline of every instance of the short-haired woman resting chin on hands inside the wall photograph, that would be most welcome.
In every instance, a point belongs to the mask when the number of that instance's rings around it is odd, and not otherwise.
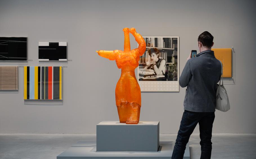
[[[166,61],[165,59],[159,59],[159,50],[157,48],[151,48],[148,50],[151,62],[147,62],[147,66],[144,69],[150,69],[151,66],[156,75],[165,75]]]

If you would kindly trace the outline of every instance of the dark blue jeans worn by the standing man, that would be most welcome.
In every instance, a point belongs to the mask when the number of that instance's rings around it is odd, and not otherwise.
[[[197,123],[200,130],[201,159],[211,158],[212,153],[212,124],[215,118],[214,112],[184,111],[177,139],[175,142],[172,159],[183,158],[188,139],[194,131]]]

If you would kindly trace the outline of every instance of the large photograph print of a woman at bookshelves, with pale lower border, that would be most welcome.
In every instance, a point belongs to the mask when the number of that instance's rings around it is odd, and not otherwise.
[[[179,37],[143,36],[146,51],[137,70],[142,92],[179,92]]]

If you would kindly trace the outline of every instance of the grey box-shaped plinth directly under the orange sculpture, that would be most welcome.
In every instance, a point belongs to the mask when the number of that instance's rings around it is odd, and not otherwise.
[[[159,121],[136,125],[102,121],[96,126],[96,151],[151,151],[159,148]]]

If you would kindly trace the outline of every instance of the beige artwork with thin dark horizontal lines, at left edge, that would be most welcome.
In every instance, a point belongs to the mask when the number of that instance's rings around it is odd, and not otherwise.
[[[18,90],[18,66],[0,66],[0,90]]]

